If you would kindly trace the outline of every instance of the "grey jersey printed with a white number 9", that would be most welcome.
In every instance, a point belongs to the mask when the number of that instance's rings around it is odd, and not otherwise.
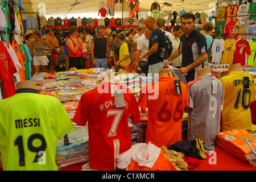
[[[205,152],[214,151],[216,134],[220,132],[223,86],[215,76],[207,75],[188,83],[189,141],[200,138],[204,141]]]

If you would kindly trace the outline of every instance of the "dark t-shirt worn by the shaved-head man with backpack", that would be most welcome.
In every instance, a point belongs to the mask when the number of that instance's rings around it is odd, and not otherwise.
[[[158,43],[158,50],[159,50],[160,40],[162,39],[162,34],[160,31],[161,30],[159,28],[155,28],[151,32],[149,44],[148,44],[148,50],[150,50],[152,48],[152,44],[154,44],[154,43]],[[160,63],[161,61],[163,61],[163,59],[160,59],[160,57],[157,55],[157,52],[148,56],[148,65]]]

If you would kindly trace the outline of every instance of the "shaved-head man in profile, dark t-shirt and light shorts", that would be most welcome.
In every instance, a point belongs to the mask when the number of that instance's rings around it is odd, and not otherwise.
[[[148,51],[144,53],[144,55],[139,56],[139,60],[141,61],[144,57],[148,57],[148,73],[151,73],[154,77],[154,74],[158,74],[163,67],[163,58],[158,55],[160,43],[163,37],[162,31],[156,26],[155,19],[152,16],[147,16],[144,20],[144,24],[148,30],[152,30]]]

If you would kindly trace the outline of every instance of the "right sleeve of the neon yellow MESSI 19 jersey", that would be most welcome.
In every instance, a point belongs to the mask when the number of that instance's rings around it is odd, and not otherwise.
[[[57,138],[61,139],[65,134],[75,130],[75,127],[73,126],[71,119],[61,102],[57,100],[56,97],[53,97],[53,99],[54,100],[52,100],[52,102],[56,103],[53,105],[54,108],[52,109],[55,110],[54,115]]]

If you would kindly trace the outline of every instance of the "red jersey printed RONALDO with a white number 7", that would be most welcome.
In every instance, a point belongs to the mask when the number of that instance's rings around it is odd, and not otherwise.
[[[102,82],[98,88],[82,94],[73,122],[85,126],[88,122],[90,168],[115,170],[119,154],[131,147],[128,117],[136,125],[140,113],[136,98],[130,89],[116,84],[123,90],[124,107],[115,107],[115,98],[110,91],[113,82]],[[97,113],[97,114],[96,114]]]

